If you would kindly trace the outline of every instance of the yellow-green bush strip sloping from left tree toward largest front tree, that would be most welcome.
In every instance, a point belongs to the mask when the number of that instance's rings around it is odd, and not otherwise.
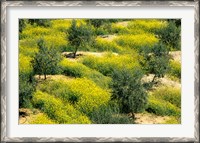
[[[73,77],[86,77],[94,81],[101,88],[108,88],[111,82],[109,77],[106,77],[100,72],[92,70],[81,63],[70,62],[67,59],[63,59],[60,65],[65,75]]]

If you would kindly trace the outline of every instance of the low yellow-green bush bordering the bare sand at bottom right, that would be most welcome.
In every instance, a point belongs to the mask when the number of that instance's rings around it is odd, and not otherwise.
[[[161,116],[180,116],[181,110],[168,101],[159,100],[154,97],[149,98],[148,107],[146,109],[150,113]]]

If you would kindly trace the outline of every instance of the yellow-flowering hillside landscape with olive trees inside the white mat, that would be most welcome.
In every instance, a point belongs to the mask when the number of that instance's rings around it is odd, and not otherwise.
[[[170,55],[180,41],[163,39],[173,24],[21,19],[19,113],[33,113],[19,122],[180,124],[181,86],[170,84],[181,85],[181,62]]]

